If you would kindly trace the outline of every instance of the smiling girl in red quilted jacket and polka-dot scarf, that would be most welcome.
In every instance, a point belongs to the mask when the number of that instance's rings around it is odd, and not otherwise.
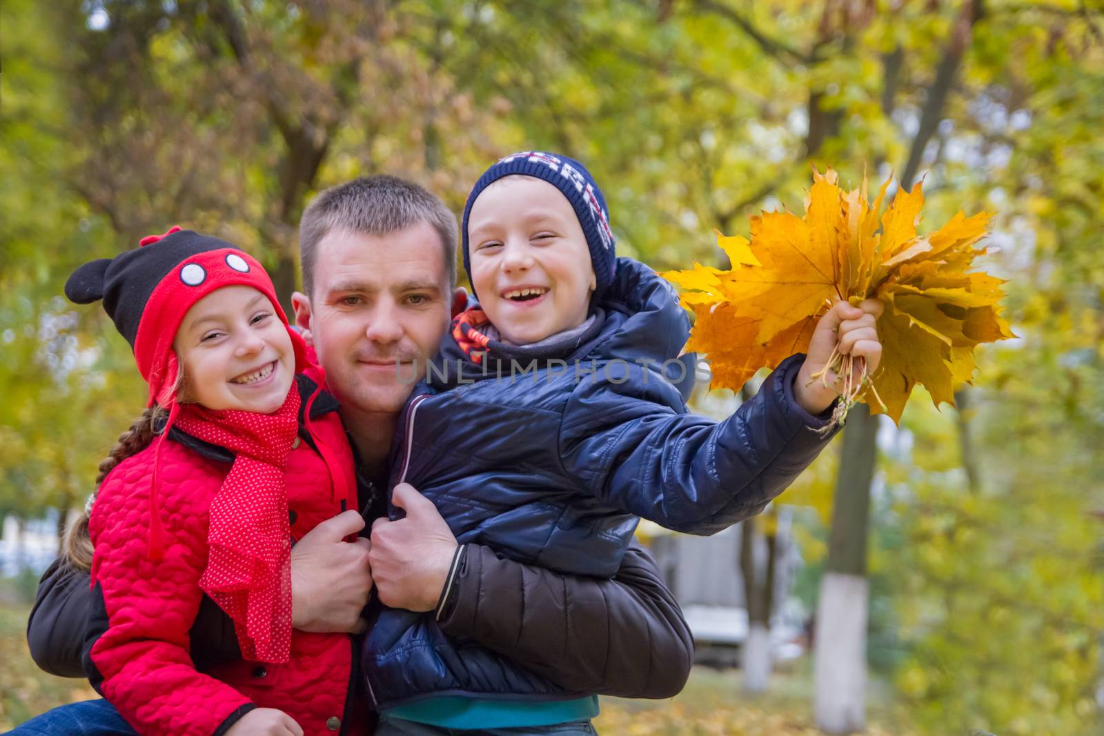
[[[85,264],[65,294],[103,299],[149,384],[67,544],[87,564],[86,527],[94,548],[93,686],[139,734],[367,733],[349,636],[291,629],[290,546],[355,508],[357,489],[337,404],[268,275],[173,227]],[[204,594],[242,659],[200,672],[189,629]]]

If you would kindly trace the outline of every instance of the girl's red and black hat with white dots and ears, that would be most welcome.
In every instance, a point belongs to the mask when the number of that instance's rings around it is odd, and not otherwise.
[[[149,403],[173,403],[180,366],[172,342],[184,314],[197,301],[224,286],[252,286],[263,292],[288,327],[272,279],[256,259],[230,243],[172,227],[144,237],[140,247],[115,258],[87,263],[65,282],[65,296],[78,305],[104,300],[104,310],[135,352],[149,384]],[[302,338],[288,327],[296,370],[305,365]]]

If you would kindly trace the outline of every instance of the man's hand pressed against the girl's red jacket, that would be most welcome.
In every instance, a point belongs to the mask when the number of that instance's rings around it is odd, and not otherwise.
[[[315,526],[291,547],[291,627],[300,631],[360,633],[372,591],[371,542],[344,537],[364,529],[355,511]]]

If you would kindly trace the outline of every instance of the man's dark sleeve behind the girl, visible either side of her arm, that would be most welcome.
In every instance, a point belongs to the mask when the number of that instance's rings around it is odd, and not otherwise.
[[[26,621],[31,659],[45,672],[61,678],[84,678],[81,654],[93,609],[88,573],[55,559],[39,580],[34,608]],[[190,637],[192,661],[203,672],[242,658],[230,617],[203,596]]]

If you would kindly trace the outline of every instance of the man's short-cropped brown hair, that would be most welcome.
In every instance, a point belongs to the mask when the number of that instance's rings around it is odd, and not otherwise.
[[[388,235],[421,222],[440,236],[448,287],[456,285],[456,215],[438,198],[397,177],[360,177],[327,189],[316,196],[299,221],[299,263],[302,290],[314,290],[315,250],[335,230],[364,235]]]

